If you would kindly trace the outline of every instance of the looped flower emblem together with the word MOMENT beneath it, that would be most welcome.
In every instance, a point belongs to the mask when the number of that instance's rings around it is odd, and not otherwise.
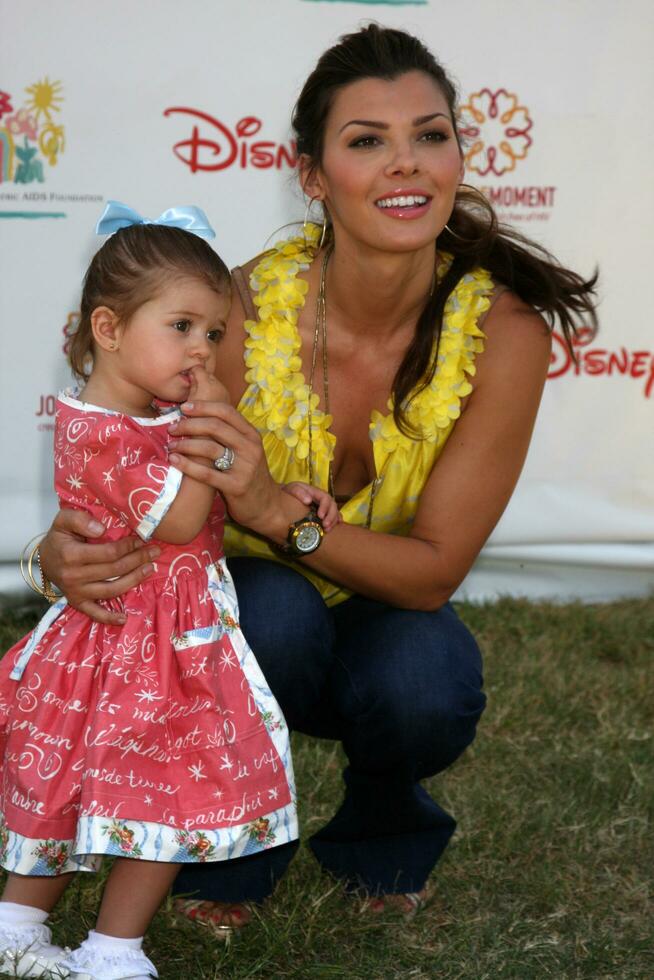
[[[482,88],[460,108],[466,171],[503,221],[547,221],[556,187],[518,186],[515,173],[534,145],[532,113],[517,93]]]

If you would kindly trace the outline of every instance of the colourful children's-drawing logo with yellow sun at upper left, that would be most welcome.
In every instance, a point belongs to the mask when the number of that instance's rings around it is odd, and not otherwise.
[[[42,184],[44,163],[56,165],[64,151],[64,127],[53,115],[61,111],[61,89],[61,82],[47,77],[35,82],[18,109],[13,96],[0,90],[0,183]]]

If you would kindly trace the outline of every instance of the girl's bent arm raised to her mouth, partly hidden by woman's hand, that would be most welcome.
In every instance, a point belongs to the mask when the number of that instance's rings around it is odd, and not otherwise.
[[[227,389],[203,367],[192,371],[193,383],[189,389],[188,400],[229,401]],[[194,457],[195,458],[195,457]],[[195,462],[210,468],[205,459],[195,458]],[[166,516],[159,522],[153,537],[169,544],[187,544],[200,533],[209,511],[213,506],[216,491],[205,483],[199,483],[185,476],[174,502]]]

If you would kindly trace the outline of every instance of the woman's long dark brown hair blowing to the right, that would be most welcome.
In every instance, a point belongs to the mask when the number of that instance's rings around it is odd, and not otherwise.
[[[456,89],[445,70],[418,38],[369,24],[325,51],[305,82],[293,112],[298,153],[306,154],[314,164],[322,159],[327,116],[341,88],[362,78],[391,81],[410,71],[424,72],[436,82],[447,100],[460,144]],[[437,247],[453,256],[452,264],[418,318],[413,341],[393,380],[395,421],[413,437],[419,433],[411,430],[405,416],[408,399],[432,379],[436,368],[432,350],[440,336],[445,303],[467,272],[479,266],[487,269],[496,282],[543,314],[550,329],[558,322],[571,350],[575,323],[583,321],[592,327],[597,323],[593,302],[597,272],[584,279],[561,266],[542,246],[500,224],[480,191],[460,187],[447,224]]]

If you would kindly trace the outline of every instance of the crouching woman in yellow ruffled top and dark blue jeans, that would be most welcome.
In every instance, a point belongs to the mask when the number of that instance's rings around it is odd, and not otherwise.
[[[171,444],[228,502],[241,625],[289,725],[348,756],[312,850],[373,908],[396,896],[407,912],[455,826],[419,780],[471,742],[485,700],[448,600],[524,462],[550,357],[541,314],[569,337],[575,315],[593,317],[595,284],[498,229],[462,185],[455,111],[444,71],[401,31],[371,25],[322,56],[294,126],[323,229],[236,271],[218,373],[238,412],[189,406]],[[342,503],[324,540],[281,491],[293,479]],[[79,543],[94,534],[62,512],[43,566],[117,622],[99,603],[146,576],[152,552]],[[232,862],[227,883],[191,869],[176,887],[198,894],[191,914],[238,925],[291,852]]]

